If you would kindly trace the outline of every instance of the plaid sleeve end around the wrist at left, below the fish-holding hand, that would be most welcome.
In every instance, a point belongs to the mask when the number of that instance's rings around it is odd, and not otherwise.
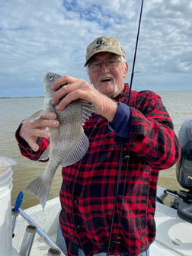
[[[44,138],[38,138],[37,143],[40,146],[40,149],[36,152],[30,148],[29,144],[23,138],[21,138],[20,136],[21,126],[22,126],[22,123],[20,124],[20,126],[18,127],[18,130],[15,133],[15,138],[18,141],[18,146],[21,151],[21,155],[24,155],[30,160],[39,161],[40,155],[42,155],[42,153],[50,144],[49,140]],[[46,161],[48,161],[48,159],[40,160],[40,162],[46,162]]]

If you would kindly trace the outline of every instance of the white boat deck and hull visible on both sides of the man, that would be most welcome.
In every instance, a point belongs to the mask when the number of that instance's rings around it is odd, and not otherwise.
[[[46,203],[44,211],[42,210],[42,206],[37,205],[24,210],[24,213],[27,213],[37,223],[37,226],[40,226],[55,241],[59,211],[59,198],[56,197]],[[192,224],[178,218],[176,210],[161,203],[157,203],[155,221],[157,235],[155,242],[150,248],[151,256],[192,255]],[[13,255],[18,255],[16,251],[20,251],[26,226],[26,220],[19,216],[14,229]],[[40,238],[40,235],[36,234],[30,255],[45,256],[49,248],[50,245],[43,238]]]

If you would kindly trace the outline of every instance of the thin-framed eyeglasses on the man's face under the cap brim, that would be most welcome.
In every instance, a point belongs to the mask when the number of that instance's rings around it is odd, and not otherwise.
[[[98,72],[101,70],[101,67],[103,66],[103,64],[108,69],[116,69],[119,66],[120,62],[121,62],[120,59],[107,59],[105,62],[93,61],[88,64],[88,69],[91,72]]]

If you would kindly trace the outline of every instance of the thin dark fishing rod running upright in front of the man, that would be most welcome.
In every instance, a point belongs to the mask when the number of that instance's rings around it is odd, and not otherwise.
[[[131,90],[132,90],[133,76],[134,76],[135,63],[136,63],[136,52],[137,52],[140,25],[141,25],[141,19],[142,19],[143,2],[144,2],[144,0],[142,0],[140,15],[139,15],[139,26],[138,26],[138,30],[137,30],[137,36],[136,36],[136,47],[135,47],[135,53],[134,53],[134,58],[133,58],[133,68],[132,68],[132,72],[131,72],[130,91],[129,91],[127,105],[130,104],[130,95],[131,95]],[[129,161],[129,157],[127,157],[127,158],[128,158],[128,161]],[[121,170],[122,161],[123,161],[123,144],[122,144],[121,149],[120,149],[120,160],[119,160],[119,168],[118,168],[118,174],[117,174],[117,189],[116,189],[116,195],[115,195],[115,200],[114,200],[114,210],[113,210],[111,224],[110,224],[110,236],[109,236],[109,244],[108,244],[108,248],[107,248],[107,256],[109,256],[110,245],[111,245],[111,242],[112,242],[112,234],[113,234],[113,229],[114,229],[114,216],[115,216],[115,210],[116,210],[116,205],[117,205],[118,190],[119,190],[119,185],[120,185],[120,170]],[[127,162],[127,165],[128,165],[128,162]],[[117,242],[117,243],[119,243],[119,242]]]

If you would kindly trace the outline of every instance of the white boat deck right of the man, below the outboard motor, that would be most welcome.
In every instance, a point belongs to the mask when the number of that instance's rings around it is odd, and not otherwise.
[[[177,211],[156,204],[155,222],[157,233],[151,246],[151,256],[191,256],[192,224],[184,222]]]

